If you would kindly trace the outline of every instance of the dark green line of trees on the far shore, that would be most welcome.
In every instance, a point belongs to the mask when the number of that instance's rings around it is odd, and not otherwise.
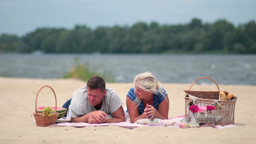
[[[225,19],[203,24],[160,25],[138,22],[132,26],[91,29],[37,28],[24,36],[2,34],[0,52],[30,53],[256,53],[256,23],[234,26]]]

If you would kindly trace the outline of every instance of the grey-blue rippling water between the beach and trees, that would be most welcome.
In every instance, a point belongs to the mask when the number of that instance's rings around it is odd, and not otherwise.
[[[75,59],[90,70],[111,71],[116,83],[133,83],[136,74],[150,71],[163,83],[192,84],[207,76],[218,84],[256,85],[256,55],[0,54],[0,76],[62,78]],[[196,83],[214,84],[208,79]]]

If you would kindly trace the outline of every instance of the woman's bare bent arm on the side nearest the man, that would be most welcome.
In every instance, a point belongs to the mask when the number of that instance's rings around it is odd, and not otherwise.
[[[139,115],[139,108],[136,106],[137,104],[134,103],[134,101],[132,101],[130,97],[126,96],[126,107],[129,112],[131,123],[134,123],[139,119],[146,119],[145,113],[143,113],[142,115]]]

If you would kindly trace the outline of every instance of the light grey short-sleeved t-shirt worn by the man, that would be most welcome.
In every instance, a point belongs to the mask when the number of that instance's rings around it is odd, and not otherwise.
[[[107,94],[103,97],[102,106],[100,109],[106,114],[110,115],[122,106],[122,100],[118,94],[110,88],[106,88]],[[84,116],[85,114],[96,111],[93,106],[90,105],[87,98],[87,89],[82,87],[75,91],[72,95],[71,104],[67,113],[67,119]]]

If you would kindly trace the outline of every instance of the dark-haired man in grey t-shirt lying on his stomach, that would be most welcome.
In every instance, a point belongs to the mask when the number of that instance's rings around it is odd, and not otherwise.
[[[75,91],[64,107],[68,108],[67,119],[72,122],[96,124],[125,121],[122,100],[113,89],[106,88],[104,79],[98,75],[91,76],[86,87]]]

